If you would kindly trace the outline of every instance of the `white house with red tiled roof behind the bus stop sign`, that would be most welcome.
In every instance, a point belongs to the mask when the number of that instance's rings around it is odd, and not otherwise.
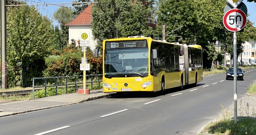
[[[71,43],[71,39],[75,39],[76,41],[80,40],[80,43],[89,44],[92,50],[95,49],[97,42],[92,39],[91,10],[92,4],[86,7],[76,18],[65,24],[65,26],[69,26],[69,44]]]

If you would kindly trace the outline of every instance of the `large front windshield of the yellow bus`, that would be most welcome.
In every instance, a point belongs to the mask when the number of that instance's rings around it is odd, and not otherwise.
[[[104,71],[105,75],[148,74],[148,48],[105,49]]]

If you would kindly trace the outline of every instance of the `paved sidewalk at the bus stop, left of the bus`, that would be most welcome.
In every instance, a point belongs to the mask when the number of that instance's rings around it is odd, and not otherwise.
[[[60,107],[70,104],[77,104],[85,101],[95,100],[111,96],[113,93],[103,93],[103,90],[90,91],[88,95],[78,95],[78,93],[50,96],[31,101],[0,102],[0,117],[19,113],[27,113],[47,108]]]

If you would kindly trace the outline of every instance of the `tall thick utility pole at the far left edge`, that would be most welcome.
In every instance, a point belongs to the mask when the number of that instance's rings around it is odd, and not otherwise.
[[[1,88],[7,88],[6,61],[6,0],[1,0]]]

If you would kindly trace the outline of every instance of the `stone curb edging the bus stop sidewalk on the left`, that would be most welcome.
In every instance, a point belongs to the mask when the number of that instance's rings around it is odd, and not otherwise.
[[[83,100],[81,100],[81,101],[78,101],[78,102],[76,102],[76,103],[60,104],[60,105],[55,105],[55,106],[50,106],[50,107],[42,107],[42,108],[37,108],[37,109],[33,109],[33,110],[15,112],[15,113],[11,113],[11,114],[2,115],[2,116],[0,116],[0,118],[1,118],[1,117],[5,117],[5,116],[16,115],[16,114],[34,112],[34,111],[38,111],[38,110],[45,110],[45,109],[50,109],[50,108],[55,108],[55,107],[67,106],[67,105],[71,105],[71,104],[78,104],[78,103],[82,103],[82,102],[86,102],[86,101],[92,101],[92,100],[96,100],[96,99],[100,99],[100,98],[106,98],[106,97],[111,96],[112,94],[113,94],[113,93],[111,93],[111,94],[105,94],[105,95],[101,95],[101,96],[90,97],[90,98],[87,98],[87,99],[83,99]]]

